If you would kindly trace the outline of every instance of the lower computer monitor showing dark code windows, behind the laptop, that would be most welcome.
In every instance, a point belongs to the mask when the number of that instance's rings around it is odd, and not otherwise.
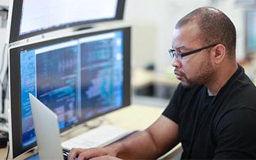
[[[10,48],[12,158],[36,146],[29,92],[60,132],[130,105],[130,28],[92,30]]]

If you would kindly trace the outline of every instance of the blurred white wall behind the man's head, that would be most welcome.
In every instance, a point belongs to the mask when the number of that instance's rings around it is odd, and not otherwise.
[[[132,24],[132,65],[143,67],[154,62],[156,70],[166,72],[171,68],[167,50],[171,47],[171,35],[176,22],[188,12],[200,6],[215,6],[235,23],[238,34],[237,58],[245,55],[244,9],[235,6],[235,0],[127,0],[125,21]]]

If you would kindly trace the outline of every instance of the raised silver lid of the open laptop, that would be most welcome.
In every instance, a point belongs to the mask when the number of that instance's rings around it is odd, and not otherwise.
[[[40,159],[63,160],[58,116],[29,93]]]

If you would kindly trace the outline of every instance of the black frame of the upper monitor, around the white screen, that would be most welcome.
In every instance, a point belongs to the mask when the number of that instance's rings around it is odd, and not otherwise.
[[[105,22],[105,21],[115,21],[121,20],[124,16],[124,4],[125,0],[118,0],[117,3],[117,11],[114,18],[102,18],[102,19],[95,19],[91,21],[77,21],[71,23],[65,23],[61,26],[53,26],[50,28],[43,29],[41,31],[34,31],[31,33],[26,33],[23,35],[19,35],[19,28],[21,26],[21,12],[23,6],[23,0],[11,0],[13,1],[12,10],[11,10],[11,26],[10,26],[10,33],[9,33],[9,43],[13,43],[16,41],[20,41],[24,38],[30,38],[32,36],[40,35],[42,33],[47,33],[50,31],[56,31],[63,28],[69,28],[73,26],[85,26],[82,28],[91,28],[94,23]]]

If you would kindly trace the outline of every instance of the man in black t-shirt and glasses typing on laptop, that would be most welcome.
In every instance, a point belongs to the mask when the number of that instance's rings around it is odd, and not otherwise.
[[[218,9],[181,18],[169,50],[181,84],[163,114],[122,142],[69,158],[156,159],[181,142],[181,159],[256,159],[256,87],[236,63],[235,35]]]

